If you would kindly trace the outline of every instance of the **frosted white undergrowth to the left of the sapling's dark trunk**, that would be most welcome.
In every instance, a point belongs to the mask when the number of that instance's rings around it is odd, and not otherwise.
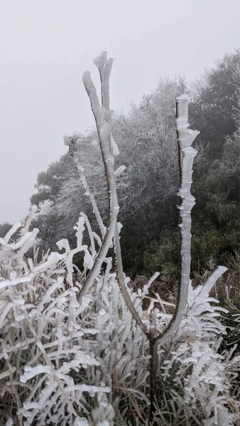
[[[21,237],[9,242],[19,229]],[[47,253],[40,263],[28,257],[38,229],[16,224],[0,241],[1,409],[14,425],[87,425],[82,417],[112,425],[113,403],[118,408],[129,395],[148,404],[147,342],[119,294],[111,258],[80,299],[93,264],[83,231],[80,217],[77,248],[59,241],[63,253]],[[77,268],[76,278],[78,251],[84,251],[84,270]],[[141,297],[131,297],[142,315]]]

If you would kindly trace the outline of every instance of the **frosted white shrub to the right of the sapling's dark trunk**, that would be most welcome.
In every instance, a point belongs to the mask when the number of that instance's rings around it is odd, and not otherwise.
[[[168,350],[160,353],[159,392],[166,392],[170,383],[168,397],[187,410],[187,420],[194,425],[198,420],[204,426],[230,426],[239,413],[231,383],[238,375],[240,356],[232,356],[236,346],[219,353],[222,336],[227,334],[221,312],[227,310],[209,297],[216,275],[217,271],[196,288],[190,285],[186,315]]]

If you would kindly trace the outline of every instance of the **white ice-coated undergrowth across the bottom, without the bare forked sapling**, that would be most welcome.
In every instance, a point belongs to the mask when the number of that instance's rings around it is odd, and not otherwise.
[[[10,242],[19,229],[20,238]],[[83,231],[80,217],[77,249],[70,251],[67,241],[60,241],[63,253],[47,253],[38,263],[36,256],[28,257],[37,229],[29,232],[17,224],[1,239],[0,386],[5,422],[11,418],[13,425],[114,425],[121,424],[121,417],[114,420],[114,415],[125,413],[132,419],[130,411],[136,410],[141,424],[147,416],[148,342],[119,293],[111,258],[89,295],[79,301],[93,261],[82,244]],[[81,250],[85,267],[76,275],[72,256]],[[147,327],[158,301],[160,331],[171,317],[165,311],[168,304],[156,295],[148,310],[142,310],[151,281],[131,299]],[[232,425],[238,405],[231,396],[231,381],[239,357],[232,357],[232,351],[218,353],[226,329],[219,322],[224,310],[209,297],[213,282],[209,278],[204,285],[190,287],[187,314],[170,345],[159,351],[156,403],[170,384],[170,407],[175,404],[181,411],[187,406],[189,418],[195,413],[204,425],[214,425],[219,416],[228,418],[219,425]]]

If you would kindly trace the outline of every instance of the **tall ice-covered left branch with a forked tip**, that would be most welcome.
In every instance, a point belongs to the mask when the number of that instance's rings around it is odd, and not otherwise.
[[[102,151],[102,160],[104,163],[104,170],[107,180],[107,190],[108,190],[108,199],[109,199],[109,224],[107,228],[107,233],[104,237],[102,247],[97,255],[97,258],[94,262],[94,267],[87,276],[87,281],[82,288],[82,292],[87,292],[91,287],[94,279],[97,277],[97,274],[100,271],[102,262],[107,256],[107,251],[111,246],[112,239],[114,238],[114,248],[116,253],[116,269],[117,269],[117,279],[119,283],[119,288],[121,294],[124,297],[126,305],[128,306],[133,318],[136,320],[137,324],[143,332],[147,335],[146,326],[141,321],[141,318],[138,316],[136,309],[131,301],[126,284],[124,281],[124,271],[121,261],[121,246],[119,241],[119,231],[117,229],[116,219],[119,212],[119,204],[116,194],[116,175],[114,171],[114,155],[119,153],[116,142],[111,133],[111,111],[109,109],[109,77],[111,73],[111,67],[113,64],[113,59],[107,59],[107,53],[103,52],[99,55],[98,58],[94,60],[94,64],[99,69],[100,80],[101,80],[101,89],[102,89],[102,107],[99,105],[99,99],[97,97],[97,91],[94,87],[92,79],[89,75],[89,72],[84,72],[82,80],[84,82],[85,89],[89,96],[89,100],[92,107],[92,112],[94,114],[94,119],[97,125],[97,133],[99,136],[99,143]],[[123,167],[120,168],[122,170]]]

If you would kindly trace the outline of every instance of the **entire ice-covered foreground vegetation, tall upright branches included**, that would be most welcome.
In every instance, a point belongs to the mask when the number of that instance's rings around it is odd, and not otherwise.
[[[101,75],[102,105],[89,73],[83,80],[107,177],[108,222],[99,214],[77,158],[80,137],[65,136],[99,229],[93,231],[81,213],[75,249],[62,239],[58,251],[40,255],[38,229],[29,231],[33,207],[23,224],[0,239],[1,424],[236,425],[240,356],[234,354],[236,345],[219,349],[227,333],[221,322],[225,310],[209,296],[226,268],[218,267],[197,287],[189,277],[191,143],[196,133],[187,129],[187,98],[178,99],[177,111],[183,241],[179,297],[173,306],[156,294],[143,310],[158,273],[133,293],[123,272],[115,178],[124,167],[114,170],[112,60],[103,53],[94,62]],[[81,269],[74,263],[79,253]],[[169,307],[175,308],[174,315]]]

